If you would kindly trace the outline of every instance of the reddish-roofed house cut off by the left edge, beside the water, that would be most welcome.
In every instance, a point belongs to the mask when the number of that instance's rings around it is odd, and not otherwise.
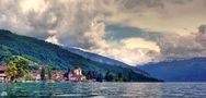
[[[9,83],[10,77],[5,75],[7,65],[0,65],[0,82],[2,83]]]

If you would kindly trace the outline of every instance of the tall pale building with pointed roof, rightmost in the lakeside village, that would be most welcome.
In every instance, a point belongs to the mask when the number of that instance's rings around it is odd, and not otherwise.
[[[82,74],[82,69],[80,66],[75,66],[75,69],[68,73],[68,81],[69,82],[85,81],[85,76]]]

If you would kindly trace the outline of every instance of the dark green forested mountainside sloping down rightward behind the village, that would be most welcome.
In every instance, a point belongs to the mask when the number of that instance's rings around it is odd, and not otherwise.
[[[9,30],[0,29],[0,61],[8,62],[11,57],[21,56],[33,62],[47,64],[58,70],[66,71],[68,68],[72,69],[75,65],[81,66],[87,71],[99,71],[105,74],[107,71],[123,76],[130,77],[137,82],[157,82],[158,79],[144,74],[136,73],[131,69],[122,68],[118,65],[111,65],[108,63],[101,63],[92,61],[87,57],[70,52],[59,46],[46,42],[32,37],[20,36]]]

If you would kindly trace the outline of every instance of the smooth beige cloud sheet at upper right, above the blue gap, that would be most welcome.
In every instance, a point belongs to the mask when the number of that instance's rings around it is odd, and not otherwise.
[[[107,23],[190,35],[206,23],[205,0],[98,0]]]

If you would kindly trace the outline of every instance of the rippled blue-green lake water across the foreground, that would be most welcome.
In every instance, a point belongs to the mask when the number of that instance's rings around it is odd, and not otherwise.
[[[1,96],[19,97],[193,97],[206,96],[206,83],[24,83],[0,84]]]

